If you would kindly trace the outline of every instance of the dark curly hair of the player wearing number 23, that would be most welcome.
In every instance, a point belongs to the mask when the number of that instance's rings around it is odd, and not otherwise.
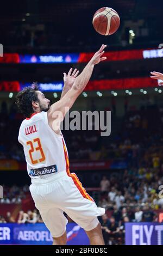
[[[29,118],[30,115],[34,113],[32,102],[39,101],[36,94],[37,90],[39,90],[39,86],[34,82],[31,86],[24,87],[15,97],[15,103],[19,111],[24,114],[25,117]]]

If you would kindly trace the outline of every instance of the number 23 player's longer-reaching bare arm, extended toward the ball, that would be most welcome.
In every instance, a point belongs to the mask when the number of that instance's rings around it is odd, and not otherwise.
[[[85,66],[82,73],[76,78],[72,88],[66,93],[66,95],[49,108],[48,119],[56,118],[54,113],[57,112],[60,112],[59,119],[61,119],[61,121],[64,119],[66,112],[72,107],[77,97],[83,92],[86,84],[89,82],[94,66],[106,59],[106,57],[102,57],[105,47],[106,45],[102,45],[101,48],[94,54],[90,62]]]

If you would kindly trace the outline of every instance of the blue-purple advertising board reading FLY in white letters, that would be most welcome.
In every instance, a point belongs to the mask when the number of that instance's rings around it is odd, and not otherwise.
[[[125,242],[126,245],[163,245],[163,223],[126,223]]]

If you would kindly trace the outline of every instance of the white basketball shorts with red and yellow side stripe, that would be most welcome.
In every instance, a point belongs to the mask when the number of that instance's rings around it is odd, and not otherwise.
[[[67,175],[65,171],[55,173],[50,179],[32,179],[29,189],[53,237],[66,231],[68,221],[64,212],[86,231],[96,228],[99,223],[97,216],[105,214],[105,209],[97,207],[74,173]]]

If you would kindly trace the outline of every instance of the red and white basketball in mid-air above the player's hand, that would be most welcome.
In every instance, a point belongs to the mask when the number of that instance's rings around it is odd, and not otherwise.
[[[112,35],[120,27],[120,16],[109,7],[103,7],[93,16],[93,27],[101,35]]]

